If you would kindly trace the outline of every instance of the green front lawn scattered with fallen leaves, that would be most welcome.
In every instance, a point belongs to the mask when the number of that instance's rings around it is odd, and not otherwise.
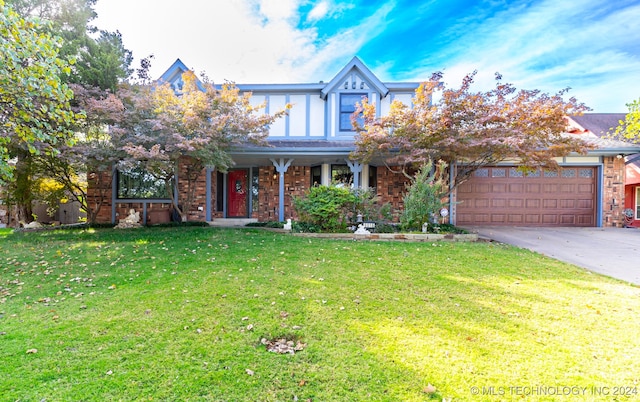
[[[490,243],[2,231],[0,400],[636,400],[639,312]],[[303,350],[261,343],[283,337]]]

